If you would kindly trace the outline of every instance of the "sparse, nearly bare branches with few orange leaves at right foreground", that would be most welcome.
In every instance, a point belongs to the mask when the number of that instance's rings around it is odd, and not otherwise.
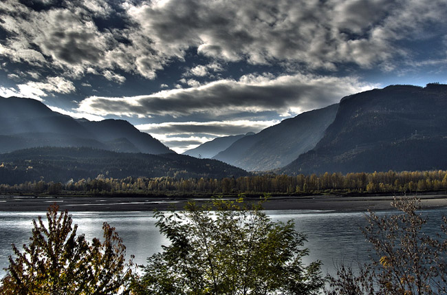
[[[341,265],[338,277],[330,278],[328,294],[446,294],[446,217],[443,234],[433,237],[424,232],[427,217],[417,212],[419,200],[397,199],[392,206],[402,213],[367,216],[369,225],[363,232],[377,258],[358,272]]]

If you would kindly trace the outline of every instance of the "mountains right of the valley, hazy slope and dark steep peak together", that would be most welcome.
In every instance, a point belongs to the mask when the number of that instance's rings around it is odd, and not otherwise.
[[[243,136],[212,158],[288,175],[445,169],[446,107],[447,85],[391,85]]]

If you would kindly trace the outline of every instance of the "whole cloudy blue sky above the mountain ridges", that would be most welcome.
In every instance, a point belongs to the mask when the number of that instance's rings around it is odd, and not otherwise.
[[[447,83],[445,0],[1,0],[0,96],[182,153],[343,96]]]

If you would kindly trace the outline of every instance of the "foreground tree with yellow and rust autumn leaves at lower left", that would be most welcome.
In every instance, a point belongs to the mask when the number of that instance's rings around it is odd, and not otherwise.
[[[104,223],[104,241],[76,236],[77,225],[67,210],[58,214],[50,206],[47,227],[39,216],[33,220],[30,243],[23,252],[13,244],[1,294],[123,294],[129,293],[131,265],[125,263],[126,248],[115,228]]]

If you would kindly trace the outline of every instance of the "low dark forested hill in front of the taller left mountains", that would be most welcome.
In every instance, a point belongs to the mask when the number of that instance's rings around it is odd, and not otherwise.
[[[162,177],[222,178],[248,175],[217,160],[166,153],[116,153],[91,148],[33,148],[0,154],[0,183],[67,182],[69,179]]]

